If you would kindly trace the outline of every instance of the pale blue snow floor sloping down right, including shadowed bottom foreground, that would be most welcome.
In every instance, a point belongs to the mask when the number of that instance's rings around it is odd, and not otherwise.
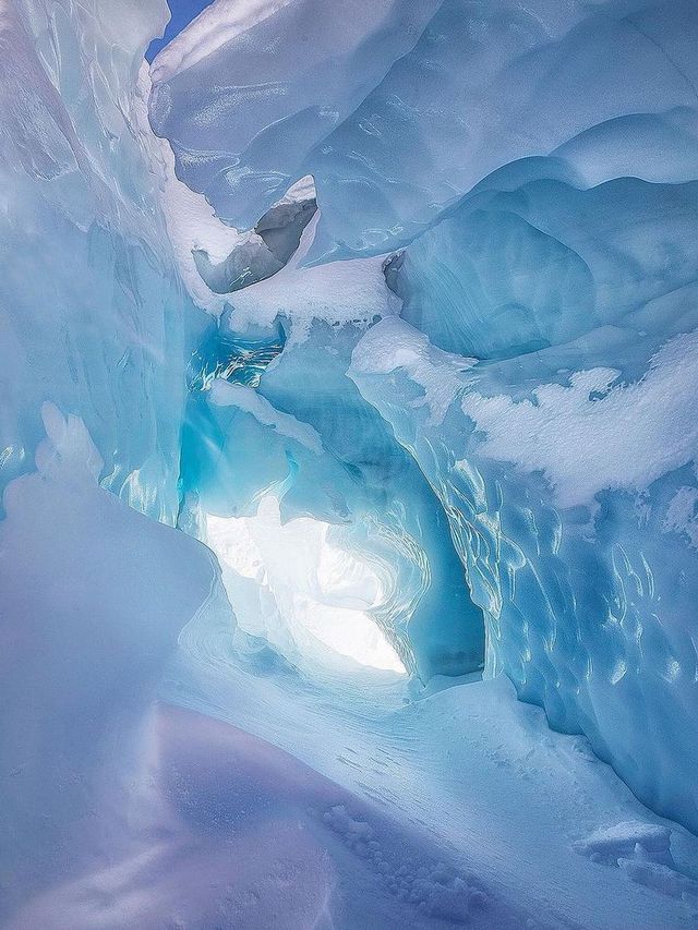
[[[258,833],[232,870],[232,926],[698,927],[698,838],[651,813],[583,737],[550,730],[506,679],[408,697],[405,679],[359,666],[344,681],[250,677],[222,619],[184,631],[165,697],[240,729],[170,704],[160,720],[167,764],[184,754],[186,777],[208,786],[196,816],[224,845]],[[275,870],[299,857],[314,878],[277,889]],[[210,882],[225,899],[230,874]],[[270,887],[284,914],[268,922]]]

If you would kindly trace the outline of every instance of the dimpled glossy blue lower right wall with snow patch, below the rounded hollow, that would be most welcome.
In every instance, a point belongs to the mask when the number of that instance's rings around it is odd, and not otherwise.
[[[615,348],[613,330],[594,335]],[[695,826],[698,572],[682,504],[697,483],[695,337],[674,336],[631,383],[575,371],[575,348],[458,371],[388,319],[350,375],[443,502],[485,615],[489,674]]]

